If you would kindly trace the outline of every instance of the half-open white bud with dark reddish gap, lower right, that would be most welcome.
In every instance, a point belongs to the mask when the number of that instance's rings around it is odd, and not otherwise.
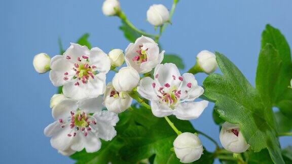
[[[235,153],[242,153],[249,147],[240,131],[239,125],[237,124],[224,122],[219,138],[222,146],[226,150]]]

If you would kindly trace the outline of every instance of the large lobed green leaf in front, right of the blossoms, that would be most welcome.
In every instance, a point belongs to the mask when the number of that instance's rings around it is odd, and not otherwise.
[[[228,58],[216,52],[216,60],[223,75],[210,74],[204,80],[204,95],[215,101],[216,111],[224,120],[240,125],[255,152],[268,148],[275,163],[284,163],[271,106]]]

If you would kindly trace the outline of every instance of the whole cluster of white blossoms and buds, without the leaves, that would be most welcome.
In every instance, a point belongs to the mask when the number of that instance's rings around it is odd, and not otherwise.
[[[121,14],[119,1],[104,1],[102,12],[106,16]],[[163,5],[151,6],[147,19],[154,26],[170,22],[169,12]],[[89,50],[74,43],[52,59],[44,53],[36,55],[33,59],[35,70],[39,73],[50,71],[52,84],[62,87],[62,94],[51,98],[55,121],[44,130],[45,135],[51,137],[52,147],[63,155],[83,149],[98,151],[100,139],[110,141],[117,135],[118,114],[131,108],[133,99],[149,100],[152,113],[157,117],[198,118],[208,101],[195,101],[204,89],[198,85],[194,73],[214,72],[217,68],[215,55],[201,51],[197,64],[188,73],[181,74],[175,64],[162,64],[164,52],[153,38],[142,35],[128,45],[125,55],[120,49],[107,55],[97,47]],[[121,67],[124,63],[126,66]],[[117,67],[121,68],[117,71]],[[116,74],[112,82],[106,84],[106,74],[110,70]],[[173,147],[180,161],[198,160],[203,146],[197,134],[177,134]],[[239,126],[228,122],[223,125],[220,140],[225,149],[233,152],[243,152],[249,147]]]

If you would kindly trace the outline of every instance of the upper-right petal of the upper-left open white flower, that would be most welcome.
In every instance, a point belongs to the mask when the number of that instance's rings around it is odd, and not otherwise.
[[[111,69],[111,60],[97,47],[90,50],[89,61],[90,65],[96,66],[99,72],[107,73]]]

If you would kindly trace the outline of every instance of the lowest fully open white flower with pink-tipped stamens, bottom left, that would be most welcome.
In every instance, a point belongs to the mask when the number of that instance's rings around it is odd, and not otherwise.
[[[45,128],[51,138],[51,145],[62,154],[73,151],[95,152],[100,149],[100,139],[112,140],[117,132],[114,128],[119,121],[116,113],[101,110],[102,98],[76,101],[64,99],[55,105],[52,115],[56,120]],[[91,114],[93,113],[93,114]]]

